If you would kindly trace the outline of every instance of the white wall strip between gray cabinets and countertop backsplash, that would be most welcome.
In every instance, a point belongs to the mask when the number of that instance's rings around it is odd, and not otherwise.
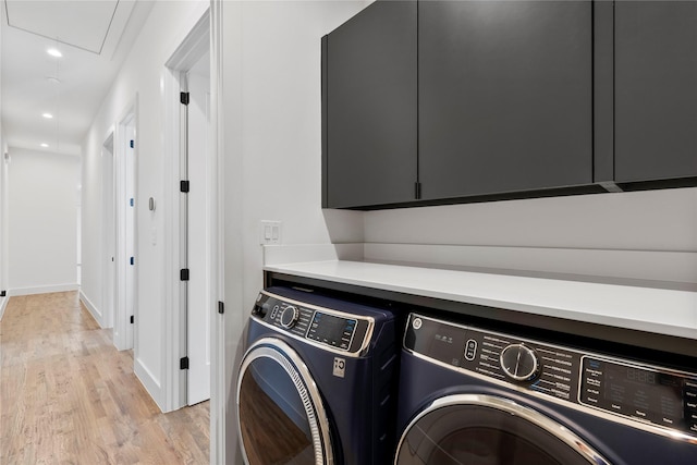
[[[697,189],[508,200],[365,213],[366,242],[697,250]]]

